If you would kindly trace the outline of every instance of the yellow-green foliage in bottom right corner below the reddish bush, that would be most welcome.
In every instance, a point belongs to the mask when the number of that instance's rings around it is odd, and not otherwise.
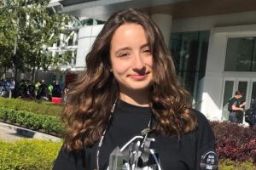
[[[219,160],[219,170],[255,170],[256,166],[253,165],[253,160],[248,161],[232,161],[230,159]]]

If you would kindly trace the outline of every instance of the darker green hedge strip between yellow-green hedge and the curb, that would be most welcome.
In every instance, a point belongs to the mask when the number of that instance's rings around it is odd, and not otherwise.
[[[60,117],[38,115],[28,111],[15,111],[3,107],[0,107],[0,121],[32,130],[44,130],[44,133],[51,133],[56,136],[60,136],[64,130]]]

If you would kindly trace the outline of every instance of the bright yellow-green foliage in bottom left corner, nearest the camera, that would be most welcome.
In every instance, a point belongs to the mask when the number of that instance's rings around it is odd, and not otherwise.
[[[20,139],[15,143],[0,141],[0,169],[52,169],[61,144],[38,139]]]

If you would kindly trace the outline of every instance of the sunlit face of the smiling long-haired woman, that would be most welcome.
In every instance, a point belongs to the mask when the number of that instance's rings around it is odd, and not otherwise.
[[[112,37],[110,61],[121,93],[148,90],[153,78],[153,56],[143,26],[119,26]]]

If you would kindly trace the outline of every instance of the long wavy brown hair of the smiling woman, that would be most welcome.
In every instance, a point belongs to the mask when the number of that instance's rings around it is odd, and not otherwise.
[[[64,147],[78,151],[99,141],[108,124],[118,83],[110,71],[110,43],[113,33],[125,23],[143,26],[154,57],[150,107],[157,122],[156,133],[180,135],[195,129],[195,116],[189,110],[189,94],[177,82],[175,66],[158,26],[138,9],[113,14],[96,37],[86,56],[86,69],[67,96],[62,120],[67,125]]]

